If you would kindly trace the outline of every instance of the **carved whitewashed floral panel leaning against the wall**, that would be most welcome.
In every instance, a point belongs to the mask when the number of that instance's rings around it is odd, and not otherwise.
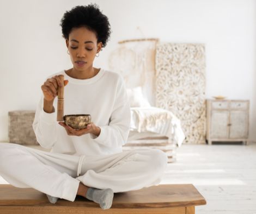
[[[156,107],[181,120],[186,143],[205,143],[205,48],[157,43]]]

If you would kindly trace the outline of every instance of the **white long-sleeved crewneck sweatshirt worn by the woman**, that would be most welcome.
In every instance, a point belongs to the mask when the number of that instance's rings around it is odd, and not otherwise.
[[[36,140],[53,153],[71,155],[101,155],[122,152],[130,130],[130,104],[123,78],[114,72],[101,70],[90,79],[75,79],[65,71],[69,83],[64,87],[64,115],[89,114],[92,122],[100,127],[100,135],[86,134],[70,136],[57,122],[57,101],[53,102],[54,112],[43,110],[44,96],[36,108],[33,129]]]

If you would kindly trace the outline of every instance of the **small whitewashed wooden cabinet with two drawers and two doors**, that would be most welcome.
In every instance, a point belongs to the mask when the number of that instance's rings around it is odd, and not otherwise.
[[[206,140],[242,141],[247,144],[249,100],[212,100],[206,102]]]

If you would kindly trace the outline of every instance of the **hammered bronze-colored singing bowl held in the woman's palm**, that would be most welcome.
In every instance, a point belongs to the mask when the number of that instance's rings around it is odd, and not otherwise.
[[[91,121],[90,115],[65,115],[64,122],[73,129],[80,130],[86,128]]]

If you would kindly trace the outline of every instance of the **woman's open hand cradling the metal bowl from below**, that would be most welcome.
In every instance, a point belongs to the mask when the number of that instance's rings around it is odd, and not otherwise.
[[[80,130],[75,130],[69,125],[66,125],[64,122],[59,122],[59,124],[66,129],[66,133],[68,135],[81,136],[89,133],[94,134],[96,136],[100,135],[100,127],[97,127],[93,122],[89,123],[86,128]]]

